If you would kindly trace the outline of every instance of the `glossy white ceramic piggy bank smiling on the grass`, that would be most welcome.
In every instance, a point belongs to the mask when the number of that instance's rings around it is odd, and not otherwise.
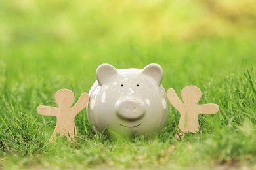
[[[89,91],[87,118],[93,131],[108,137],[154,137],[165,127],[169,105],[158,64],[116,69],[102,64]]]

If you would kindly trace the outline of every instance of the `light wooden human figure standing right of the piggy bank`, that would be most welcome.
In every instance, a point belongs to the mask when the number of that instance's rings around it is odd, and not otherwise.
[[[202,93],[196,86],[186,86],[183,88],[181,97],[184,103],[179,99],[173,88],[167,90],[167,97],[171,105],[181,114],[178,127],[184,133],[196,133],[199,131],[198,114],[215,114],[219,110],[217,104],[197,104],[202,97]]]

